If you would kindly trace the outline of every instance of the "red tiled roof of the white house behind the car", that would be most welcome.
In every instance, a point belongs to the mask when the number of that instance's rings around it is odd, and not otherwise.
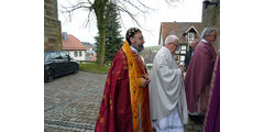
[[[63,38],[63,50],[86,50],[86,46],[74,35],[67,34],[67,41]]]

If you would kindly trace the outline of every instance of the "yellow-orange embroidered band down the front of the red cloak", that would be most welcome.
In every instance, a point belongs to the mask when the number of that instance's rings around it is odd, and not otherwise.
[[[127,59],[128,59],[133,132],[139,132],[140,131],[139,95],[140,95],[140,86],[141,86],[141,80],[138,75],[139,66],[138,66],[138,63],[135,62],[133,53],[127,41],[124,42],[122,50],[124,51]]]

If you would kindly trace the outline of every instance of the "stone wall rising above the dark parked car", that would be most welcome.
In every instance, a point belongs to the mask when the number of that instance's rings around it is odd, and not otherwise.
[[[44,0],[44,51],[62,50],[62,26],[57,16],[57,0]]]

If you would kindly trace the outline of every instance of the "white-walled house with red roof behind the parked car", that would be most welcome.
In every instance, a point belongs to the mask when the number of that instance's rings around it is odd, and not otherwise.
[[[86,46],[66,32],[63,32],[63,51],[76,61],[86,61]]]

